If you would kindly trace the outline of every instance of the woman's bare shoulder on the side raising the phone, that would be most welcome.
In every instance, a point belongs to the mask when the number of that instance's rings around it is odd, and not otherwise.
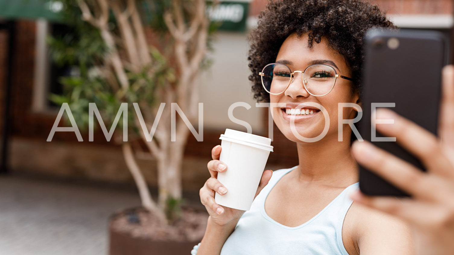
[[[342,241],[350,255],[411,255],[410,226],[400,219],[353,203],[345,215]]]

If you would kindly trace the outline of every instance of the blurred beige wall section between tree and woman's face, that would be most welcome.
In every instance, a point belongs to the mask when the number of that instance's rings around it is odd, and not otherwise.
[[[235,102],[243,101],[251,109],[237,107],[233,116],[247,121],[253,133],[263,131],[262,108],[256,108],[252,99],[251,82],[248,80],[247,33],[219,32],[213,43],[214,52],[209,57],[212,67],[200,77],[200,102],[203,102],[204,128],[232,128],[246,131],[242,125],[228,118],[228,109]]]

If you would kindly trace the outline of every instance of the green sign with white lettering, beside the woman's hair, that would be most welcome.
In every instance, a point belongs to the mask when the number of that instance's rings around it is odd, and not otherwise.
[[[207,6],[210,19],[213,22],[222,22],[219,30],[246,31],[248,12],[248,1],[222,1],[215,6]]]

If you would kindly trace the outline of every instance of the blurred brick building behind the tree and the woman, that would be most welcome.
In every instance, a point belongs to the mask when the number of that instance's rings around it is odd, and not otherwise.
[[[52,13],[62,8],[59,1],[48,1],[41,13],[21,9],[35,1],[0,1],[0,80],[2,102],[10,99],[7,119],[1,128],[9,127],[10,143],[6,147],[7,168],[11,173],[32,173],[58,178],[89,179],[111,183],[133,183],[123,163],[120,149],[114,142],[106,142],[98,134],[94,142],[78,142],[74,133],[57,132],[52,142],[46,142],[59,110],[49,101],[49,93],[61,92],[59,76],[71,69],[58,67],[48,56],[46,38],[50,34],[65,33],[65,28]],[[374,0],[402,28],[437,29],[450,38],[453,27],[451,0]],[[257,15],[266,0],[222,1],[221,8],[212,10],[213,19],[224,21],[212,44],[212,67],[200,77],[200,102],[204,103],[203,142],[190,136],[186,154],[183,188],[198,190],[207,177],[205,164],[211,148],[219,144],[219,135],[225,128],[244,130],[242,125],[228,118],[229,107],[235,102],[246,102],[251,109],[237,107],[233,115],[247,121],[252,132],[268,133],[266,109],[255,107],[250,91],[247,68],[247,31],[257,23]],[[44,17],[39,17],[40,15]],[[43,19],[44,18],[44,19]],[[9,45],[12,43],[12,45]],[[450,54],[450,53],[449,53]],[[9,58],[11,57],[11,58]],[[10,63],[9,63],[10,61]],[[6,95],[7,80],[11,91]],[[5,103],[1,112],[5,111]],[[184,109],[183,109],[184,111]],[[165,117],[165,116],[164,116]],[[7,121],[5,121],[7,120]],[[193,121],[194,124],[196,121]],[[60,124],[64,125],[64,124]],[[270,156],[270,167],[291,167],[297,163],[295,145],[274,130],[275,152]],[[143,158],[148,166],[147,179],[156,183],[153,159]]]

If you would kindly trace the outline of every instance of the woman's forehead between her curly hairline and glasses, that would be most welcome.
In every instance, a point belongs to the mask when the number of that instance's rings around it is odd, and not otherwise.
[[[276,57],[276,62],[282,60],[290,62],[295,70],[304,70],[314,60],[331,60],[339,67],[339,71],[350,73],[344,56],[330,48],[325,38],[322,37],[320,43],[314,41],[309,48],[308,34],[302,34],[300,37],[291,34],[287,37]]]

